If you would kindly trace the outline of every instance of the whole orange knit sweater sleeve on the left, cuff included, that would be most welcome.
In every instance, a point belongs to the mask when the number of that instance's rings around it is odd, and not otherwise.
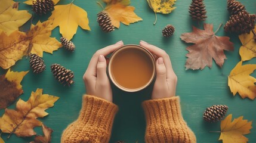
[[[118,107],[112,102],[84,95],[79,117],[63,131],[61,142],[109,142],[117,111]]]

